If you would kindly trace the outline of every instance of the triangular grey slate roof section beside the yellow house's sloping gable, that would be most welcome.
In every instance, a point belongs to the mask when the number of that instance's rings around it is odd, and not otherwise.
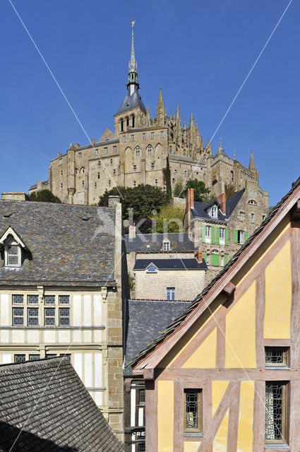
[[[127,328],[124,375],[131,374],[126,367],[140,350],[157,338],[169,323],[186,310],[191,302],[164,302],[152,300],[129,300],[127,304]]]

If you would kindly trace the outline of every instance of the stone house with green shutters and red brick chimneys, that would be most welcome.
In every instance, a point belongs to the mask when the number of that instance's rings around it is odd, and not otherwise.
[[[208,265],[207,281],[226,266],[268,215],[268,206],[258,197],[253,184],[246,182],[246,187],[231,198],[226,199],[223,193],[211,203],[195,202],[193,189],[188,190],[185,230],[195,248],[203,252]]]

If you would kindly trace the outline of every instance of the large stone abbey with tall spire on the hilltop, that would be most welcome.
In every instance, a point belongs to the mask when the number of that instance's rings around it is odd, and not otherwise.
[[[165,187],[163,170],[169,157],[172,189],[176,182],[198,179],[219,196],[224,184],[232,183],[236,189],[250,185],[256,202],[268,209],[268,192],[258,185],[253,153],[248,168],[229,158],[222,144],[213,156],[210,142],[203,144],[192,113],[188,125],[184,119],[184,126],[179,105],[174,115],[167,115],[161,89],[156,118],[150,118],[139,93],[133,25],[127,93],[114,115],[114,132],[105,129],[99,141],[88,145],[71,143],[66,153],[50,162],[49,180],[30,186],[29,193],[47,188],[64,203],[92,204],[105,189],[116,185]]]

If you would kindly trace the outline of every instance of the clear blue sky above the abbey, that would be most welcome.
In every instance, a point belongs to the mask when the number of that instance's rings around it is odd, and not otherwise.
[[[212,136],[288,0],[12,0],[90,138],[113,129],[126,94],[136,19],[140,94]],[[217,131],[248,166],[251,149],[270,204],[300,176],[300,4],[292,1]],[[69,143],[88,143],[9,1],[1,1],[0,191],[28,191]]]

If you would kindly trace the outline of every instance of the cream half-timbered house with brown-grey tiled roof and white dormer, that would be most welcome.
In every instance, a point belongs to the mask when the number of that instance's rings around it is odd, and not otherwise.
[[[0,201],[0,364],[66,355],[120,436],[121,227],[121,204]]]

